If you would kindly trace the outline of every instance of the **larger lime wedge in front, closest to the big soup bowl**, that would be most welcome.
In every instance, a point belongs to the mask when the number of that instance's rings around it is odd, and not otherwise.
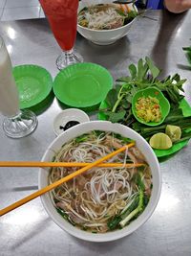
[[[150,146],[156,150],[168,150],[172,147],[170,137],[162,132],[153,135],[149,141]]]

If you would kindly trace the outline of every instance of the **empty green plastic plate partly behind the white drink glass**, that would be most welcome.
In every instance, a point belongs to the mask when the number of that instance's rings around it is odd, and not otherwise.
[[[52,91],[52,76],[43,67],[36,65],[15,66],[13,76],[19,91],[21,109],[40,104]]]

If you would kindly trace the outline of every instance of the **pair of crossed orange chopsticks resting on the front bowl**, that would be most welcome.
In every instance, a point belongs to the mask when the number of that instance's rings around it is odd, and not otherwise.
[[[30,196],[26,197],[26,198],[22,198],[14,203],[12,203],[11,205],[9,205],[8,207],[0,210],[0,216],[3,216],[9,212],[11,212],[12,210],[18,208],[19,206],[31,201],[32,199],[34,198],[38,198],[40,196],[42,196],[43,194],[53,190],[54,188],[56,188],[57,186],[61,185],[62,183],[64,182],[67,182],[69,181],[70,179],[74,178],[75,176],[77,175],[81,175],[83,173],[85,173],[86,171],[88,171],[89,169],[93,168],[93,167],[96,167],[96,166],[101,166],[101,167],[105,167],[108,165],[112,165],[110,163],[107,163],[107,164],[103,164],[102,162],[108,160],[109,158],[112,158],[113,156],[115,156],[117,153],[119,152],[122,152],[122,151],[125,151],[131,147],[135,146],[135,143],[130,143],[129,145],[126,145],[126,146],[123,146],[122,148],[118,149],[117,151],[113,151],[103,157],[101,157],[100,159],[96,160],[95,162],[93,163],[75,163],[76,166],[83,166],[81,169],[77,170],[76,172],[74,172],[73,174],[71,175],[67,175],[57,181],[55,181],[53,184],[50,184],[48,186],[46,186],[45,188],[43,189],[40,189],[34,193],[32,193]],[[16,165],[17,163],[17,165]],[[57,164],[57,165],[56,165]],[[63,165],[62,165],[63,164]],[[71,165],[73,164],[73,165]],[[38,162],[38,163],[30,163],[30,162],[15,162],[15,163],[9,163],[9,162],[1,162],[1,165],[0,167],[13,167],[13,166],[20,166],[20,167],[51,167],[51,166],[65,166],[66,167],[69,167],[69,166],[74,166],[74,163],[56,163],[56,162],[51,162],[51,163],[43,163],[43,162]],[[122,165],[123,164],[116,164],[116,163],[113,163],[113,166],[117,166],[117,165]],[[126,164],[128,165],[128,164]],[[132,165],[132,164],[129,164],[129,165]],[[137,164],[137,165],[141,165],[141,164]]]

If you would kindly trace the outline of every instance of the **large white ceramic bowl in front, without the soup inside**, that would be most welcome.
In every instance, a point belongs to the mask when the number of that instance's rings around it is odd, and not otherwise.
[[[143,211],[143,213],[138,217],[138,219],[136,219],[135,221],[132,221],[129,225],[125,226],[121,230],[116,230],[116,231],[108,232],[105,234],[93,234],[87,231],[80,230],[75,226],[73,226],[70,222],[65,221],[55,210],[49,194],[42,196],[41,199],[50,217],[63,230],[67,231],[74,237],[77,237],[82,240],[92,241],[92,242],[108,242],[108,241],[117,240],[119,238],[122,238],[131,234],[136,229],[138,229],[139,226],[141,226],[145,221],[149,219],[149,217],[152,215],[159,201],[160,188],[161,188],[161,176],[159,171],[158,158],[156,157],[154,151],[151,149],[149,144],[133,129],[127,128],[119,124],[112,124],[107,121],[87,122],[87,123],[80,124],[74,128],[70,128],[66,130],[64,133],[60,134],[53,141],[53,143],[50,145],[48,150],[45,152],[42,158],[42,161],[52,161],[53,154],[54,154],[53,151],[60,150],[61,146],[69,142],[71,139],[74,139],[75,137],[83,133],[86,133],[95,129],[113,131],[121,134],[122,136],[126,136],[136,140],[138,149],[142,151],[142,153],[145,155],[147,162],[151,167],[151,172],[153,176],[153,189],[152,189],[152,195],[149,200],[149,203],[145,208],[145,210]],[[48,171],[40,169],[39,189],[48,185],[48,174],[49,174]]]

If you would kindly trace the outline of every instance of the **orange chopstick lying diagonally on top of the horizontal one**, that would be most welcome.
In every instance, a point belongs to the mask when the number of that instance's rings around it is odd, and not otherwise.
[[[73,174],[67,175],[67,176],[65,176],[65,177],[55,181],[53,184],[50,184],[50,185],[46,186],[45,188],[40,189],[40,190],[32,193],[32,195],[30,195],[30,196],[28,196],[26,198],[22,198],[22,199],[20,199],[20,200],[18,200],[16,202],[12,203],[11,205],[7,206],[6,208],[0,210],[0,216],[3,216],[5,214],[11,212],[12,210],[14,210],[14,209],[18,208],[19,206],[21,206],[21,205],[31,201],[34,198],[42,196],[43,194],[53,190],[54,188],[56,188],[57,186],[61,185],[62,183],[69,181],[70,179],[74,178],[77,175],[81,175],[81,174],[85,173],[89,169],[91,169],[91,168],[97,166],[98,164],[108,160],[109,158],[112,158],[117,153],[125,151],[125,150],[127,150],[127,149],[129,149],[129,148],[131,148],[133,146],[135,146],[135,143],[130,143],[129,145],[123,146],[122,148],[118,149],[117,151],[113,151],[113,152],[111,152],[111,153],[101,157],[100,159],[96,160],[95,162],[89,164],[88,166],[85,166],[85,167],[77,170]]]

